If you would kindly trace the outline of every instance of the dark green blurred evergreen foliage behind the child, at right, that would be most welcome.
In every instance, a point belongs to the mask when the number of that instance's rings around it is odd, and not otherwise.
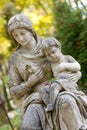
[[[84,6],[73,8],[66,1],[53,1],[55,37],[62,43],[63,53],[72,55],[81,64],[79,86],[87,92],[87,10]]]

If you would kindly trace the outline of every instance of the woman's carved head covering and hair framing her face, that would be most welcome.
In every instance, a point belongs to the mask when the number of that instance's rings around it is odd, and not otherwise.
[[[8,22],[8,33],[13,39],[17,48],[20,46],[20,44],[14,39],[14,37],[12,36],[12,32],[14,31],[14,29],[19,28],[19,27],[25,28],[29,32],[31,32],[37,42],[37,34],[35,33],[33,29],[32,22],[24,14],[16,14],[13,17],[11,17]]]

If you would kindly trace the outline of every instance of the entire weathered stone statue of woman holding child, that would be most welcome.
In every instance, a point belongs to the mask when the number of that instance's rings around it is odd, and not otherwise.
[[[55,38],[39,37],[23,14],[9,20],[8,32],[16,45],[8,60],[9,90],[13,98],[23,98],[21,130],[86,130],[87,96],[77,89],[79,63],[62,54]]]

